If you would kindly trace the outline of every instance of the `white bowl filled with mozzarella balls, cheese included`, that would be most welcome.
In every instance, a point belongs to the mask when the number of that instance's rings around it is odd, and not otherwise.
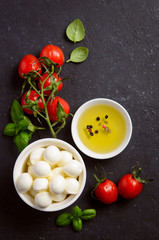
[[[28,145],[17,158],[13,182],[34,209],[53,212],[73,204],[86,183],[81,155],[65,141],[45,138]]]

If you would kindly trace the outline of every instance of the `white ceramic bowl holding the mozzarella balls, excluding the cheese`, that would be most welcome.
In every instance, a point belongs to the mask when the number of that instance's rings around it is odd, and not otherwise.
[[[47,208],[40,208],[35,205],[34,198],[32,198],[30,194],[19,193],[19,191],[17,190],[17,187],[16,187],[16,182],[17,182],[17,179],[20,176],[20,174],[24,172],[27,158],[30,155],[30,153],[33,150],[35,150],[36,148],[46,147],[48,145],[55,145],[60,149],[71,152],[73,154],[73,157],[82,164],[83,171],[82,171],[81,175],[79,176],[80,188],[79,188],[79,191],[77,194],[70,195],[61,202],[52,203]],[[70,144],[68,144],[67,142],[64,142],[62,140],[59,140],[59,139],[45,138],[45,139],[41,139],[41,140],[31,143],[20,153],[19,157],[17,158],[17,160],[15,162],[14,169],[13,169],[13,182],[14,182],[14,186],[15,186],[15,189],[16,189],[18,195],[30,207],[35,208],[37,210],[45,211],[45,212],[54,212],[54,211],[62,210],[64,208],[70,206],[80,197],[80,195],[85,187],[85,183],[86,183],[86,168],[85,168],[85,164],[84,164],[82,157],[77,152],[77,150],[74,147],[72,147]]]

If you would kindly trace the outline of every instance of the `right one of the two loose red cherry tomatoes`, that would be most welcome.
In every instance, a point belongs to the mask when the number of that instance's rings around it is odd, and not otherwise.
[[[118,183],[119,194],[125,199],[136,198],[141,193],[142,187],[143,184],[130,173],[124,175]]]

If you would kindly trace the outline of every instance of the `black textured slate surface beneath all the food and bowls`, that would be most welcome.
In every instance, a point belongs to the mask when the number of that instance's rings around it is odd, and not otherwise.
[[[0,9],[0,239],[157,240],[159,1],[1,0]],[[76,18],[82,20],[86,37],[75,45],[66,38],[65,29]],[[122,104],[133,122],[131,141],[120,155],[97,161],[80,152],[87,168],[87,183],[73,206],[95,208],[97,216],[84,222],[79,233],[70,226],[56,226],[56,217],[63,211],[36,211],[18,197],[12,171],[19,153],[12,138],[2,134],[10,121],[11,103],[20,95],[19,61],[29,53],[38,57],[41,49],[50,43],[61,47],[66,59],[77,46],[86,46],[90,51],[85,62],[65,64],[62,69],[62,77],[70,79],[59,95],[69,102],[72,113],[87,100],[106,97]],[[70,126],[71,118],[58,138],[75,146]],[[43,137],[51,137],[49,131],[36,133],[32,141]],[[97,162],[117,183],[136,161],[142,167],[143,176],[147,173],[155,179],[144,186],[141,195],[132,201],[119,197],[110,206],[91,198],[95,184],[92,174]]]

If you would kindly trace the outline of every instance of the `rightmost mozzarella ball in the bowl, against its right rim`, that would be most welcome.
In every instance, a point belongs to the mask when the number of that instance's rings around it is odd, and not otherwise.
[[[71,160],[63,166],[64,173],[70,177],[77,177],[82,172],[82,164],[77,160]]]

